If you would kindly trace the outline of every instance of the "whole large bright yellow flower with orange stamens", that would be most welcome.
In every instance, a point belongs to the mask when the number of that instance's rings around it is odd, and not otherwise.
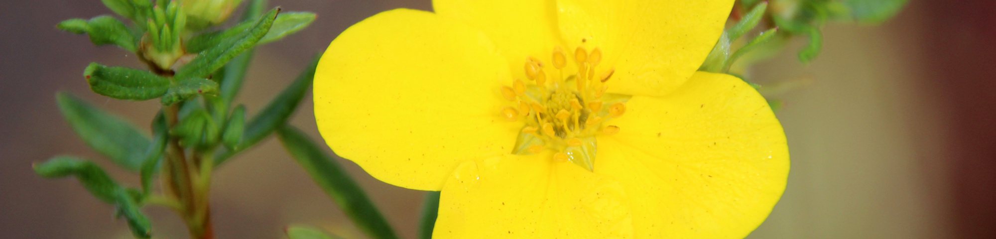
[[[785,134],[695,72],[733,1],[436,0],[354,25],[315,115],[339,155],[442,190],[435,238],[738,238],[781,196]]]

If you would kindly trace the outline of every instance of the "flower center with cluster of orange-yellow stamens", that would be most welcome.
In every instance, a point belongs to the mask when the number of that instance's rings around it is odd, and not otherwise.
[[[605,83],[616,69],[599,70],[602,51],[598,48],[591,53],[582,47],[575,51],[576,72],[566,68],[567,56],[560,47],[554,49],[551,60],[555,73],[548,74],[542,61],[530,57],[525,64],[528,83],[517,79],[501,89],[502,96],[516,104],[502,109],[502,116],[526,122],[513,153],[553,150],[554,160],[594,170],[595,136],[619,132],[619,126],[605,122],[622,117],[628,97],[606,95]]]

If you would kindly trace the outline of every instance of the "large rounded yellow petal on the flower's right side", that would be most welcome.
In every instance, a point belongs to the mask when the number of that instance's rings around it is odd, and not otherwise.
[[[629,196],[640,238],[743,238],[785,190],[785,133],[765,100],[729,75],[697,73],[663,98],[636,96],[599,137],[595,172]]]

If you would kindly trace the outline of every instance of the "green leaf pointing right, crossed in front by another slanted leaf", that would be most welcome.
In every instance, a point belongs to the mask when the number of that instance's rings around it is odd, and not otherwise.
[[[256,44],[262,45],[274,42],[304,30],[308,27],[308,25],[311,25],[311,23],[315,21],[316,16],[317,15],[315,15],[315,13],[310,12],[281,13],[280,16],[277,16],[277,18],[274,19],[273,26],[270,28],[270,31],[266,34],[266,36],[263,36],[263,38],[261,38]],[[238,36],[240,33],[252,26],[253,21],[245,21],[226,30],[197,35],[196,37],[191,38],[190,41],[187,41],[187,52],[197,53],[207,50],[208,48],[220,44],[226,39]]]

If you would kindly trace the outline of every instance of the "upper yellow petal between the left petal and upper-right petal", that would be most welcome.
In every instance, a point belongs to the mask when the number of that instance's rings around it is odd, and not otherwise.
[[[439,16],[480,29],[508,58],[513,76],[524,79],[523,67],[532,56],[552,66],[553,49],[562,45],[553,0],[467,1],[434,0]],[[549,71],[549,70],[548,70]]]

